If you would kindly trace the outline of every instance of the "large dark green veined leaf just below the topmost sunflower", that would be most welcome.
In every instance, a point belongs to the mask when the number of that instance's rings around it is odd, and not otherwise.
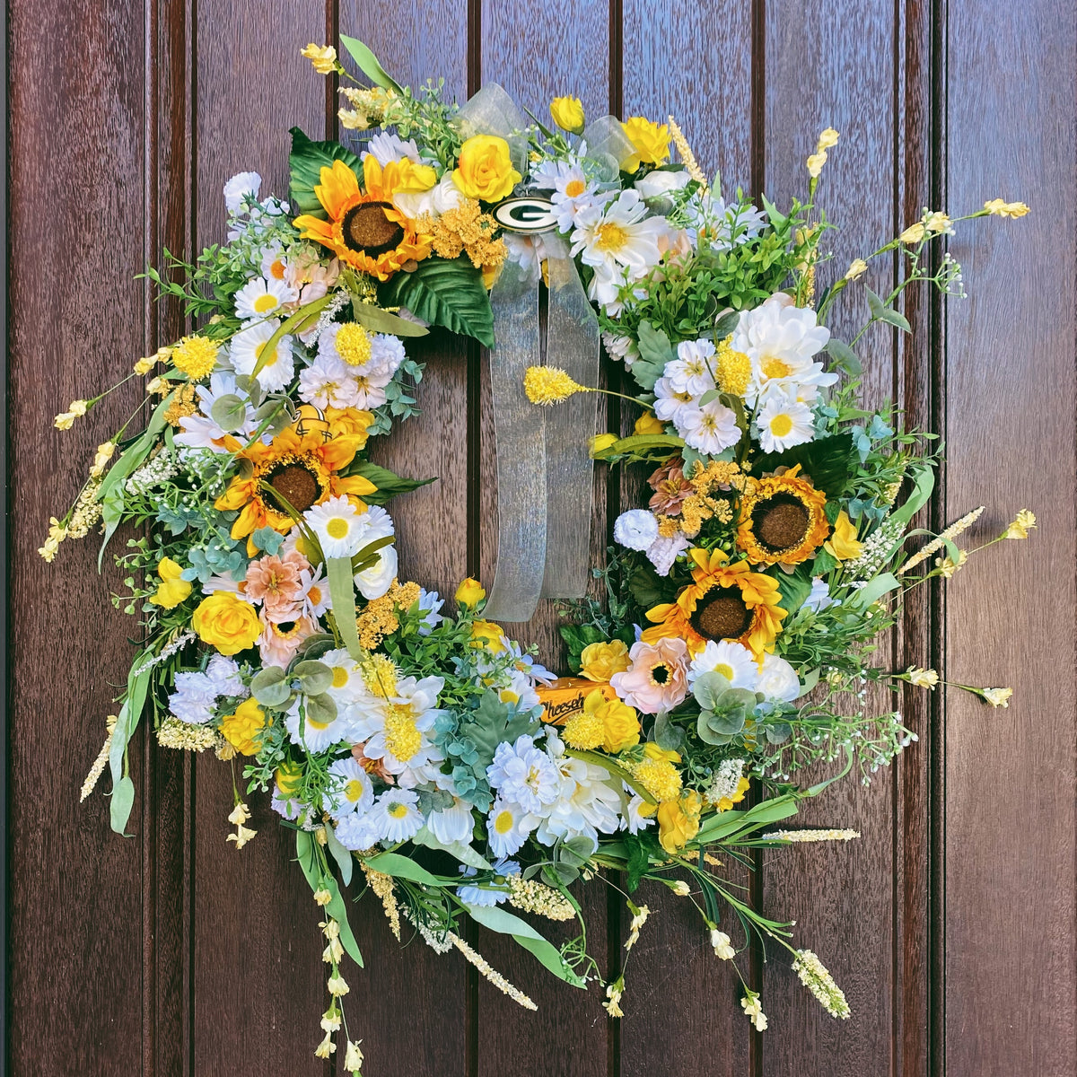
[[[407,307],[417,318],[463,336],[487,348],[494,346],[493,310],[482,274],[466,258],[429,257],[415,272],[397,272],[378,290],[386,307]]]

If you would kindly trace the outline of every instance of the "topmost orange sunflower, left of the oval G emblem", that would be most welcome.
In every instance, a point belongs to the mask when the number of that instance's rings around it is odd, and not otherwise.
[[[341,262],[378,280],[388,280],[408,262],[430,254],[431,237],[416,232],[415,222],[393,205],[393,195],[429,191],[437,174],[429,165],[411,160],[390,162],[382,168],[368,154],[363,165],[363,185],[342,162],[323,168],[314,194],[328,214],[327,221],[305,213],[295,219],[304,239],[330,248]]]

